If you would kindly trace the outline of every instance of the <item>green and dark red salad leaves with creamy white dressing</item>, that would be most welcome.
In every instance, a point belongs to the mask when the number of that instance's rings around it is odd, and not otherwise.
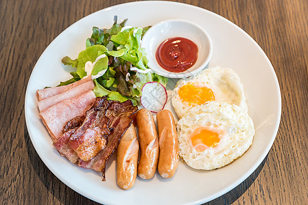
[[[64,65],[76,68],[72,79],[61,82],[67,85],[92,75],[95,96],[108,95],[109,100],[120,102],[132,100],[140,104],[142,87],[147,82],[167,84],[167,78],[155,74],[147,67],[145,49],[141,48],[141,38],[150,27],[126,27],[126,20],[115,23],[110,29],[93,27],[91,38],[86,40],[86,49],[77,59],[63,57]],[[59,85],[59,86],[60,86]]]

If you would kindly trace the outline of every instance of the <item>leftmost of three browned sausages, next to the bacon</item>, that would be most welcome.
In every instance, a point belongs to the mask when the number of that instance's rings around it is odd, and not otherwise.
[[[121,189],[134,187],[137,177],[139,143],[132,124],[124,133],[117,148],[117,184]]]

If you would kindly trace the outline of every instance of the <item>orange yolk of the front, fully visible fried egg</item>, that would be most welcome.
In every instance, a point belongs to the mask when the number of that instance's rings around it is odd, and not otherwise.
[[[207,128],[197,128],[191,135],[191,143],[193,148],[198,152],[204,151],[206,148],[213,148],[220,143],[220,133],[209,131]]]

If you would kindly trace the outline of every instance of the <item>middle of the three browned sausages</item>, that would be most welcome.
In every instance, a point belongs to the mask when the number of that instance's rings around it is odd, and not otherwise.
[[[158,135],[152,113],[147,109],[139,110],[137,125],[140,145],[138,176],[142,179],[150,179],[156,172],[159,156]]]

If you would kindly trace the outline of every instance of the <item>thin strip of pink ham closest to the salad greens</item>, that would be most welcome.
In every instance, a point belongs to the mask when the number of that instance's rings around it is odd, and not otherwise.
[[[69,85],[62,85],[60,87],[48,87],[42,90],[37,90],[36,97],[38,98],[38,101],[40,101],[45,98],[60,94],[62,92],[66,92],[67,90],[71,90],[73,87],[81,85],[82,83],[86,83],[87,81],[91,81],[91,76],[81,79],[80,81],[76,81],[75,83],[71,83]]]

